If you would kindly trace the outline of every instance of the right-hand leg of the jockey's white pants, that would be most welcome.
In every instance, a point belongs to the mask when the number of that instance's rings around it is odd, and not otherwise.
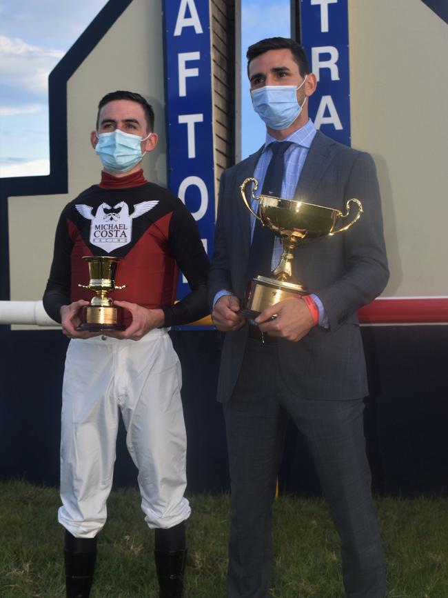
[[[126,444],[139,470],[141,508],[150,528],[172,528],[190,516],[187,437],[181,368],[166,332],[152,330],[123,348],[119,367]]]

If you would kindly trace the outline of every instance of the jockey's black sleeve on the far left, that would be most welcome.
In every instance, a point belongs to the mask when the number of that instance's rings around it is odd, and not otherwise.
[[[57,225],[50,277],[43,294],[45,312],[59,323],[61,306],[70,304],[72,247],[73,242],[68,234],[68,221],[64,211]]]

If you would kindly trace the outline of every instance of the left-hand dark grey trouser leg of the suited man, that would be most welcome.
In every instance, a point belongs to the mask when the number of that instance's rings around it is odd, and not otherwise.
[[[273,385],[275,351],[276,346],[250,343],[224,406],[232,489],[230,598],[265,598],[271,579],[272,501],[285,435]]]

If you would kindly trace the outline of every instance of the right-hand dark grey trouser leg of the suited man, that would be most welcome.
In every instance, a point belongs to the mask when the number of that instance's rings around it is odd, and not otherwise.
[[[306,401],[298,426],[341,541],[347,598],[383,598],[385,561],[365,454],[363,401]]]

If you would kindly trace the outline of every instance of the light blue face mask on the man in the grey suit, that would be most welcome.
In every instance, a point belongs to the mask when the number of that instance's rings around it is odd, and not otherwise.
[[[297,101],[296,92],[303,86],[307,76],[298,87],[294,85],[266,85],[252,90],[254,110],[270,129],[287,129],[302,112],[307,98],[305,96],[302,105],[300,105]]]

